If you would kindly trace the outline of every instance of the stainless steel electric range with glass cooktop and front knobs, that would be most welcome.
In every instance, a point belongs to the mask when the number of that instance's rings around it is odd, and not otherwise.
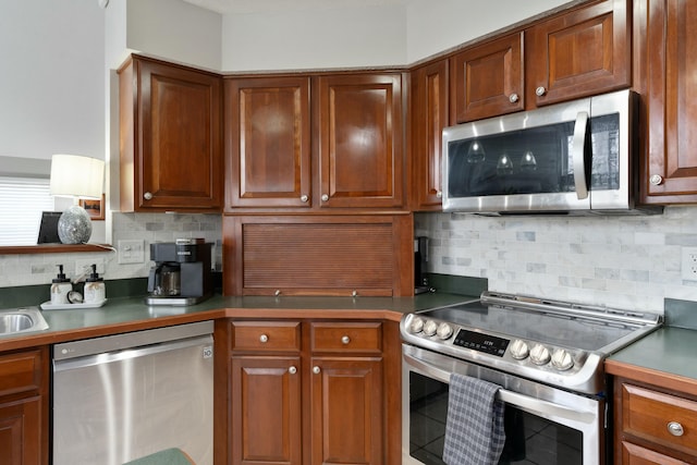
[[[405,315],[403,463],[443,464],[453,372],[500,386],[500,464],[606,463],[603,360],[661,322],[658,314],[493,292]]]

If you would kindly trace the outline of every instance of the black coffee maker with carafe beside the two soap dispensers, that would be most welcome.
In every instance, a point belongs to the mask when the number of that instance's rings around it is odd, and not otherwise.
[[[194,305],[212,295],[212,243],[178,238],[150,244],[155,265],[148,276],[147,305]]]

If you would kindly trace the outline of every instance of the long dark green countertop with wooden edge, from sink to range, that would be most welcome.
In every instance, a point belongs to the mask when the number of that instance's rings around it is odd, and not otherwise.
[[[215,295],[192,306],[148,306],[144,297],[108,298],[102,307],[50,309],[41,314],[45,331],[0,336],[0,352],[148,328],[218,318],[386,318],[450,305],[478,296],[427,293],[414,297],[225,297]]]

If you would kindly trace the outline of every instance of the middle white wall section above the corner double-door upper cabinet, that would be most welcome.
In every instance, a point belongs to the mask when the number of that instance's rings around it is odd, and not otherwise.
[[[224,71],[402,65],[404,7],[223,16]]]

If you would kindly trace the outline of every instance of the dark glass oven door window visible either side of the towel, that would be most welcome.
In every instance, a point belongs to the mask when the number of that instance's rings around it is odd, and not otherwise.
[[[448,384],[409,372],[409,454],[426,465],[443,465]],[[503,464],[582,465],[580,431],[505,406]]]

